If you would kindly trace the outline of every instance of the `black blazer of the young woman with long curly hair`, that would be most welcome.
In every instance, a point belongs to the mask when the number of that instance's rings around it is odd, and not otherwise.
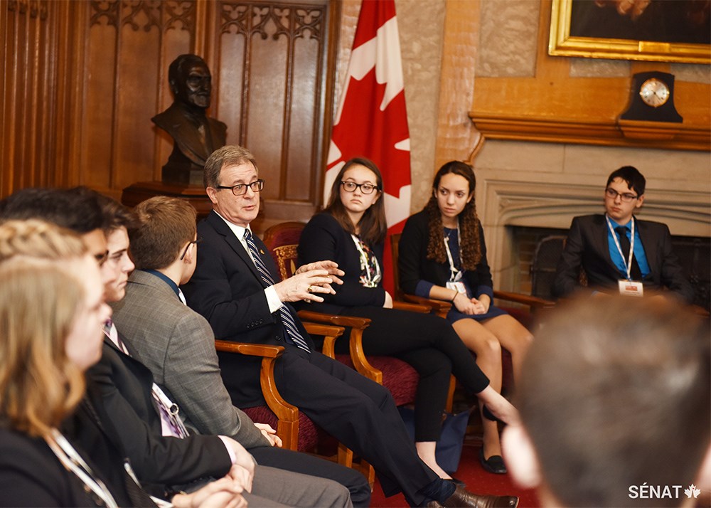
[[[481,260],[476,270],[464,272],[466,282],[472,291],[477,287],[487,286],[493,291],[491,270],[486,261],[486,243],[484,231],[479,223],[479,241],[481,242]],[[415,294],[417,282],[426,280],[434,285],[444,286],[449,281],[449,263],[437,263],[427,259],[429,242],[429,216],[426,211],[415,213],[407,219],[400,236],[400,250],[397,269],[400,270],[400,289],[411,295]],[[476,295],[475,295],[476,296]]]

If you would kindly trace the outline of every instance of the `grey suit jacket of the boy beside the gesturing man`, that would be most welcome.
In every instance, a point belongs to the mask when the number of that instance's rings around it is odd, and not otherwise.
[[[183,305],[164,280],[135,270],[126,296],[113,307],[122,338],[181,408],[186,425],[203,434],[230,435],[245,448],[269,446],[250,417],[232,406],[210,324]]]

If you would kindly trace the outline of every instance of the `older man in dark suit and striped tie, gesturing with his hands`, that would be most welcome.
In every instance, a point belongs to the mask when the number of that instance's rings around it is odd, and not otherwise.
[[[387,389],[315,351],[289,302],[323,301],[319,293],[333,292],[343,272],[332,262],[311,263],[279,282],[266,246],[250,230],[264,186],[252,154],[216,150],[204,183],[213,211],[198,224],[197,268],[183,291],[215,335],[284,346],[274,369],[284,399],[368,460],[386,495],[402,492],[412,506],[515,507],[516,497],[478,496],[439,478],[419,459]],[[262,402],[258,361],[221,358],[220,366],[233,401]]]

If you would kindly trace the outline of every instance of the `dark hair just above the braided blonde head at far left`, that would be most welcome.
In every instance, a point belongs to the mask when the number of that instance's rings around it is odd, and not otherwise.
[[[0,201],[0,221],[37,218],[83,235],[104,226],[97,196],[86,187],[21,189]]]

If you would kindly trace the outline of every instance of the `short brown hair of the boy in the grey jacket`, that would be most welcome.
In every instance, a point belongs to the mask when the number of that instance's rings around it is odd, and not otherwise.
[[[136,268],[166,268],[195,239],[196,211],[183,199],[155,196],[139,203],[134,213],[138,223],[129,229],[129,239]]]

